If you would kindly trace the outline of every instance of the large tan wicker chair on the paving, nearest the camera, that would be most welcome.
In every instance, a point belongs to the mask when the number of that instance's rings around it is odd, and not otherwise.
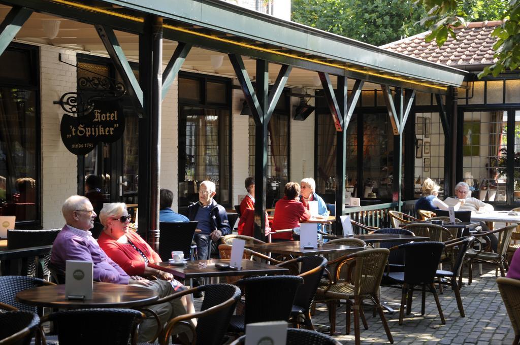
[[[345,283],[331,284],[320,289],[317,300],[326,301],[329,307],[329,319],[331,335],[334,334],[336,324],[336,301],[345,299],[347,301],[347,324],[346,334],[350,333],[350,309],[354,309],[354,333],[356,344],[360,343],[359,313],[362,314],[361,302],[370,299],[379,311],[381,322],[386,331],[388,341],[394,342],[388,324],[386,322],[381,303],[379,301],[379,285],[388,259],[389,250],[386,248],[366,249],[344,257],[339,265],[339,272],[334,277],[334,282],[341,278],[341,267],[350,266],[355,263],[354,273],[347,275]],[[347,273],[348,274],[348,273]],[[365,329],[368,328],[364,315],[361,316]]]

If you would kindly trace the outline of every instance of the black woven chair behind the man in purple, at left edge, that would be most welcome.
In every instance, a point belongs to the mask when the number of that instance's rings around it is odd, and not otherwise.
[[[46,246],[53,244],[56,236],[61,229],[50,230],[7,230],[7,249],[20,249],[36,246]],[[50,261],[50,254],[40,258],[40,267],[38,267],[37,278],[43,278],[49,275],[47,265]],[[27,266],[22,267],[21,275],[36,275],[36,264],[34,257],[27,259]]]

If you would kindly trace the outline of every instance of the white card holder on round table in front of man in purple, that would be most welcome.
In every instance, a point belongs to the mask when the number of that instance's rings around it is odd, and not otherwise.
[[[92,299],[94,263],[67,260],[65,264],[65,296],[68,299]]]

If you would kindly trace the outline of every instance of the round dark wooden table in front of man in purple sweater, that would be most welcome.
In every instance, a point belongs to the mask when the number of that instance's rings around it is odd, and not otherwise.
[[[62,309],[134,308],[157,299],[157,291],[144,286],[112,283],[94,283],[92,299],[89,300],[68,299],[65,296],[65,285],[40,286],[16,294],[18,302]]]

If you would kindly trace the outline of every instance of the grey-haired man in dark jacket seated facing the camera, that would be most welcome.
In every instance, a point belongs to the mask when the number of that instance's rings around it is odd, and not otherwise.
[[[199,260],[207,258],[210,238],[213,242],[217,242],[220,236],[231,233],[226,209],[213,200],[215,189],[215,183],[202,181],[199,188],[199,202],[188,207],[190,221],[199,221],[197,229],[201,232],[195,235]]]

